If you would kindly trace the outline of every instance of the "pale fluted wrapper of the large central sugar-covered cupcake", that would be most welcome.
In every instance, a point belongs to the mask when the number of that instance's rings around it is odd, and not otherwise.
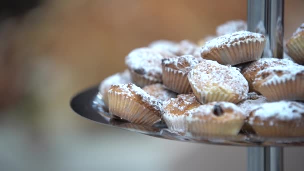
[[[221,92],[204,92],[196,88],[196,86],[191,84],[191,82],[190,85],[192,86],[193,93],[196,96],[197,100],[202,104],[207,104],[214,101],[226,101],[237,104],[242,100],[233,94],[225,94]]]

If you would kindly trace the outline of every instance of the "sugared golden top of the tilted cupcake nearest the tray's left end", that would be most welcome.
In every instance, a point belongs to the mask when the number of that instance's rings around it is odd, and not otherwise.
[[[135,100],[139,104],[155,112],[157,116],[161,117],[161,114],[163,112],[162,102],[147,94],[144,90],[132,83],[113,85],[108,92],[114,92],[120,95],[124,95],[130,100]]]

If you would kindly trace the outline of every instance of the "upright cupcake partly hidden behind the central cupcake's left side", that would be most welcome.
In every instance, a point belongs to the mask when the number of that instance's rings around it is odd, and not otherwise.
[[[198,64],[198,60],[192,55],[184,55],[176,58],[162,60],[162,81],[171,91],[179,94],[191,92],[191,86],[187,74]]]

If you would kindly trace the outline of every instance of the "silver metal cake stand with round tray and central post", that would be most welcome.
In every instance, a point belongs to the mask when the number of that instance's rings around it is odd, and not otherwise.
[[[248,30],[262,32],[267,37],[264,56],[283,57],[283,7],[284,0],[248,0]],[[267,138],[240,133],[236,136],[200,136],[175,134],[165,124],[142,126],[111,118],[98,94],[98,86],[89,88],[72,98],[72,109],[87,119],[103,125],[146,134],[163,139],[217,145],[248,147],[248,171],[282,171],[283,147],[304,146],[304,137]]]

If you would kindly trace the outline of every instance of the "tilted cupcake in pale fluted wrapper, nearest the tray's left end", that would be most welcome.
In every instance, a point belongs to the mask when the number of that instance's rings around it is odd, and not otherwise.
[[[113,85],[108,100],[109,112],[131,123],[151,126],[161,121],[162,102],[132,83]]]

